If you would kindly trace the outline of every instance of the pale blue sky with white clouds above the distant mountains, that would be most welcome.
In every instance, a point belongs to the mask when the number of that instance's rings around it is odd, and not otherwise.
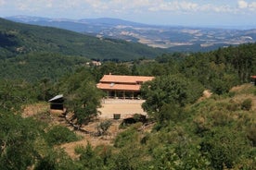
[[[256,28],[256,0],[0,0],[0,17],[19,15]]]

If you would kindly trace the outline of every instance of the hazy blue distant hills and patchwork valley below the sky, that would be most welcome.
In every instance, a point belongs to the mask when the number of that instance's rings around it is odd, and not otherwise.
[[[98,38],[140,42],[169,52],[210,51],[218,47],[256,42],[256,29],[214,29],[196,27],[155,26],[117,18],[37,18],[27,16],[7,19],[33,25],[56,27],[90,34]]]

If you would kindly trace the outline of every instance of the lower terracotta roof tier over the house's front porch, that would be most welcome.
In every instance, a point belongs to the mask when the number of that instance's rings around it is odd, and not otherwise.
[[[139,91],[139,84],[115,84],[115,83],[98,83],[96,85],[101,90],[115,91]]]

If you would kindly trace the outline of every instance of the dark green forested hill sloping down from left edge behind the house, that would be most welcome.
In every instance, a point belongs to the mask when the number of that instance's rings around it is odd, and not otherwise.
[[[0,18],[0,58],[31,52],[117,60],[153,58],[164,53],[163,50],[141,43],[96,38],[70,30],[28,25]]]

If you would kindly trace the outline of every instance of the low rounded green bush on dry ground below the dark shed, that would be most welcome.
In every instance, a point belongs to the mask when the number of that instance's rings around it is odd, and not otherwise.
[[[78,138],[72,131],[70,131],[69,128],[63,126],[55,126],[46,132],[45,140],[50,145],[57,145],[61,143],[76,141]]]

